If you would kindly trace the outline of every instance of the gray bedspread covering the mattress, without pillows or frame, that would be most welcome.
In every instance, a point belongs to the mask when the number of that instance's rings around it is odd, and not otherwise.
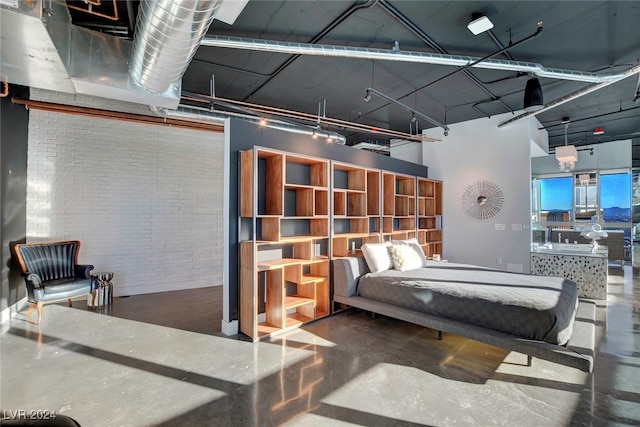
[[[567,279],[441,262],[365,274],[358,295],[559,345],[571,336],[578,306]]]

